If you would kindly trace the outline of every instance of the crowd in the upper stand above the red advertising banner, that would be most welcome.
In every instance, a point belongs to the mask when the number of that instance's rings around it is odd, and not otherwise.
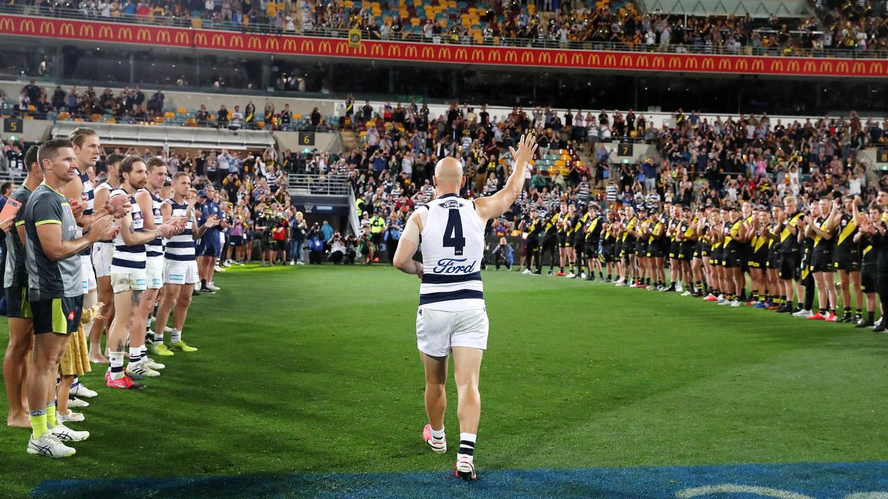
[[[12,4],[11,0],[4,3]],[[22,3],[16,2],[16,5]],[[217,0],[31,0],[27,12],[98,20],[168,23],[212,29],[256,29],[282,33],[345,32],[358,28],[370,38],[435,40],[454,44],[500,44],[509,40],[617,43],[651,50],[740,53],[744,48],[801,55],[824,49],[888,50],[884,9],[870,0],[815,5],[817,18],[753,20],[745,16],[686,17],[639,12],[634,4],[559,2],[471,2],[420,5],[340,1],[242,2]]]

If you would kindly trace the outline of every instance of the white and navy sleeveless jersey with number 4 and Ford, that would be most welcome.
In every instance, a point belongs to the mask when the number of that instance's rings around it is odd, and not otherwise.
[[[420,240],[423,282],[419,305],[445,312],[484,308],[480,269],[484,226],[474,202],[445,194],[422,208],[428,210],[428,216]]]

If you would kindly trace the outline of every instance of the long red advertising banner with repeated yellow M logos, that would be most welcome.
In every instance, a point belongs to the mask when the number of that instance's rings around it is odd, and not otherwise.
[[[485,45],[415,44],[313,36],[244,34],[193,28],[0,15],[0,36],[192,47],[205,50],[351,59],[736,75],[888,76],[888,59],[676,54],[662,52],[528,49]]]

